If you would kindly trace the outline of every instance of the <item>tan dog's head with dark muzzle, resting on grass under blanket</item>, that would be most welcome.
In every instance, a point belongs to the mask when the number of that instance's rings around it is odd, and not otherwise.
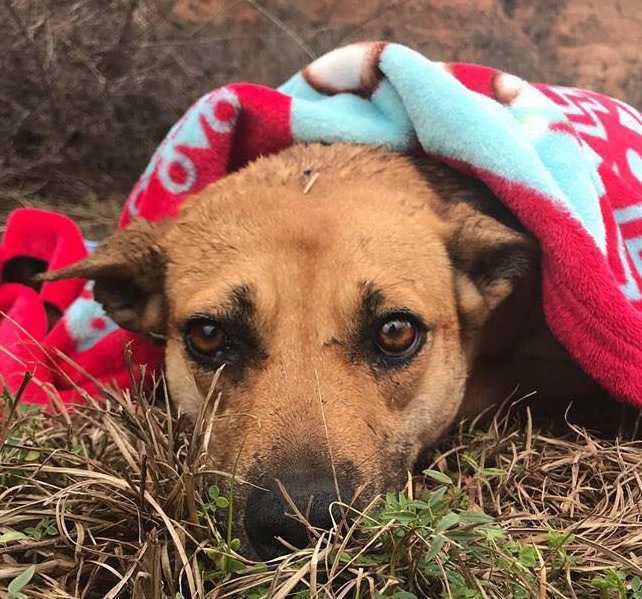
[[[380,149],[294,146],[54,276],[94,279],[117,323],[166,338],[184,412],[224,366],[211,458],[252,483],[236,485],[237,520],[269,557],[275,537],[307,538],[279,489],[327,524],[337,496],[398,487],[453,422],[534,255],[471,185]]]

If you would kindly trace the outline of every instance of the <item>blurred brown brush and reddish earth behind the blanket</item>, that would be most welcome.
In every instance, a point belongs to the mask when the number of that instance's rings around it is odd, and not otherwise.
[[[98,237],[198,96],[352,41],[642,107],[642,0],[0,0],[0,33],[0,219],[44,203]]]

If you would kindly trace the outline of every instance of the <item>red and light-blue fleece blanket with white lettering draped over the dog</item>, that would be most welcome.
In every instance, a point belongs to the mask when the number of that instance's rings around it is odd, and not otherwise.
[[[642,116],[618,100],[529,84],[478,65],[432,62],[384,42],[334,50],[279,89],[232,84],[170,130],[126,201],[121,226],[157,220],[260,155],[296,142],[383,144],[425,152],[481,179],[537,238],[545,315],[582,368],[642,407]],[[260,206],[257,206],[260,210]],[[90,247],[66,218],[20,210],[0,248],[0,374],[25,401],[81,401],[127,387],[129,365],[162,351],[119,329],[91,283],[32,289],[16,258],[55,269]],[[52,325],[55,307],[62,317]],[[129,351],[125,351],[129,348]],[[129,357],[128,357],[129,356]]]

